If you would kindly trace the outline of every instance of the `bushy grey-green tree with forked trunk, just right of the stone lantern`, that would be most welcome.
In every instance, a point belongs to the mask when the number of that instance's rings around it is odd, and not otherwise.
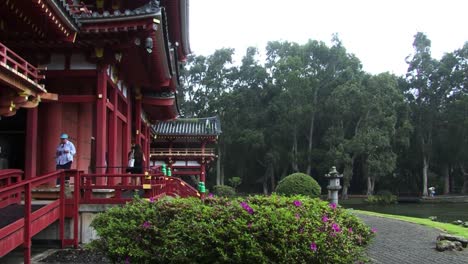
[[[372,194],[376,181],[392,175],[396,166],[393,142],[401,123],[398,109],[404,104],[397,78],[383,73],[348,82],[338,86],[327,103],[333,120],[326,136],[328,153],[343,168],[343,196],[357,159]]]

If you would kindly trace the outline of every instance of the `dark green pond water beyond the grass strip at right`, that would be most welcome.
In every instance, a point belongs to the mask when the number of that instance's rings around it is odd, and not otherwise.
[[[437,216],[440,222],[468,221],[468,203],[400,203],[392,205],[343,204],[345,208],[420,218]]]

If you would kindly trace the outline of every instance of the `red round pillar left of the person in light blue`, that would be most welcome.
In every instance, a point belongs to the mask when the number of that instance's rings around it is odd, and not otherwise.
[[[37,107],[28,109],[26,121],[26,160],[24,166],[24,176],[31,179],[37,174]]]

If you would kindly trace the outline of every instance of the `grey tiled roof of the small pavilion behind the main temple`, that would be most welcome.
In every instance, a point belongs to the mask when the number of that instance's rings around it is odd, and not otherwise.
[[[156,135],[171,136],[218,136],[221,122],[217,116],[207,118],[179,118],[157,122],[153,125]]]

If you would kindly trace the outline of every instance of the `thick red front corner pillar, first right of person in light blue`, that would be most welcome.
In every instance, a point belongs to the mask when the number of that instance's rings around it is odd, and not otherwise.
[[[96,173],[104,174],[106,165],[106,128],[107,128],[107,76],[106,67],[100,65],[97,70],[96,103]],[[96,184],[105,184],[104,177],[99,177]]]

